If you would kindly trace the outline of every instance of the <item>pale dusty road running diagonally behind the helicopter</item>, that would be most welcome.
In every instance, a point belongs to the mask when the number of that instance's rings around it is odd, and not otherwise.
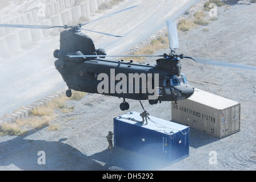
[[[124,1],[110,10],[92,14],[89,18],[96,19],[134,5],[138,7],[86,26],[91,30],[123,35],[122,38],[92,32],[85,34],[94,40],[96,48],[105,48],[109,55],[119,55],[164,27],[166,19],[176,19],[197,2],[198,0],[148,0],[146,3],[138,0]],[[14,50],[13,55],[1,59],[0,117],[66,86],[54,67],[55,49],[59,49],[58,35],[42,39],[22,51]]]

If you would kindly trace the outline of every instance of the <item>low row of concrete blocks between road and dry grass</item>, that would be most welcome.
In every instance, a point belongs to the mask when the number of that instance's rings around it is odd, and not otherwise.
[[[109,0],[105,0],[105,2],[107,2]],[[182,19],[189,19],[191,17],[193,17],[193,15],[199,11],[203,9],[203,6],[205,6],[205,3],[209,1],[209,0],[202,0],[199,1],[197,4],[195,4],[193,7],[191,7],[190,10],[188,10],[189,14],[187,15],[182,15],[179,16],[179,18],[177,20],[175,20],[175,22],[178,24]],[[101,0],[101,2],[103,2],[103,0]],[[85,2],[81,5],[81,14],[83,14],[82,9],[87,9],[89,8],[89,3]],[[62,18],[63,20],[63,18]],[[123,53],[123,55],[133,55],[134,52],[138,51],[139,49],[146,47],[147,45],[151,44],[152,40],[154,39],[158,39],[159,36],[165,36],[167,34],[167,26],[161,28],[161,30],[155,32],[153,35],[149,36],[149,38],[147,38],[146,40],[144,40],[143,42],[136,44],[133,48],[131,48],[129,51],[126,51]],[[0,38],[1,40],[1,38]],[[1,43],[1,42],[0,42]],[[0,44],[0,48],[2,45],[6,44],[6,42],[4,43],[4,41],[2,42],[2,44]],[[66,89],[62,89],[59,90],[57,92],[54,92],[53,94],[51,94],[50,96],[43,98],[40,101],[35,102],[34,104],[31,104],[27,107],[24,107],[23,109],[20,109],[18,111],[15,111],[13,114],[10,114],[9,116],[2,118],[0,120],[0,125],[1,123],[14,123],[16,121],[16,119],[19,118],[26,118],[27,116],[29,116],[29,114],[31,114],[31,110],[34,109],[35,107],[41,107],[41,106],[45,106],[48,104],[49,101],[53,100],[54,98],[57,98],[59,96],[61,96],[62,94],[66,93]]]

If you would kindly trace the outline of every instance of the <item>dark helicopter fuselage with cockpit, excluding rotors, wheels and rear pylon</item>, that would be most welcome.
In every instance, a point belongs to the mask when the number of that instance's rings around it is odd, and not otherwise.
[[[179,59],[158,59],[157,65],[132,61],[58,59],[55,67],[69,89],[133,100],[177,101],[194,89],[180,71]]]

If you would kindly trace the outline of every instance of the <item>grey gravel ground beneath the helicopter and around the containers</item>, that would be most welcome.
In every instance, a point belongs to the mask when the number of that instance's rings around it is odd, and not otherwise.
[[[256,3],[248,1],[218,7],[217,20],[179,32],[177,53],[256,66],[255,9]],[[158,53],[163,52],[169,50]],[[1,137],[0,170],[255,170],[255,72],[185,59],[182,72],[195,88],[241,102],[241,131],[219,139],[191,129],[190,156],[171,165],[120,148],[110,152],[105,137],[113,131],[113,118],[126,113],[119,109],[122,99],[87,94],[81,101],[67,101],[75,106],[72,113],[55,111],[58,117],[50,124],[58,123],[61,129],[45,127],[24,137]],[[138,101],[126,101],[130,110],[142,111]],[[150,115],[171,119],[170,102],[142,103]],[[38,165],[38,151],[45,151],[45,165]],[[210,151],[217,152],[217,164],[209,164]]]

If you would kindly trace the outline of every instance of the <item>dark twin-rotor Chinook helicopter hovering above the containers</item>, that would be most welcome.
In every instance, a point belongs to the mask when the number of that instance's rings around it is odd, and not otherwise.
[[[110,15],[121,13],[133,7],[135,6]],[[149,100],[151,105],[162,101],[178,101],[189,98],[194,93],[194,88],[187,82],[185,75],[181,72],[181,59],[184,58],[192,59],[197,63],[256,71],[256,67],[249,65],[223,63],[221,61],[183,56],[182,54],[177,55],[174,51],[178,48],[177,24],[171,21],[167,21],[170,53],[139,55],[143,57],[161,57],[156,60],[156,64],[106,59],[106,57],[137,57],[137,55],[107,55],[104,49],[95,49],[93,40],[81,32],[81,30],[87,30],[83,29],[82,26],[90,22],[77,26],[0,24],[0,27],[65,28],[66,30],[61,32],[60,49],[54,51],[54,57],[57,58],[54,64],[69,88],[66,91],[66,96],[71,97],[71,90],[77,90],[123,98],[123,102],[120,104],[121,110],[129,109],[129,104],[125,101],[126,98],[139,101]],[[97,33],[106,34],[103,32]],[[112,34],[106,35],[115,36]]]

